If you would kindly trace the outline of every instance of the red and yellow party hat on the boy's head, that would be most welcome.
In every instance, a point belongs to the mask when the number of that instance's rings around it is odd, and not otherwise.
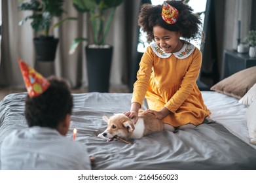
[[[20,71],[22,71],[22,76],[27,88],[27,94],[30,98],[40,95],[45,92],[45,90],[50,85],[50,82],[44,78],[42,75],[37,73],[35,69],[30,67],[22,59],[18,59],[20,64]]]

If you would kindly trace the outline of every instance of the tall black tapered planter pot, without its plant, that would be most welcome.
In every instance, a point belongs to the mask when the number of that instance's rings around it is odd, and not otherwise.
[[[113,46],[96,48],[86,46],[88,92],[109,92],[109,76]]]

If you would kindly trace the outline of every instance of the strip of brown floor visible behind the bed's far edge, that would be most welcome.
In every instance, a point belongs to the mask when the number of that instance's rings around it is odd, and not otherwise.
[[[14,89],[14,88],[0,88],[0,101],[10,93],[27,92],[26,89]],[[72,93],[87,93],[87,88],[72,89]],[[126,86],[117,86],[109,88],[110,93],[129,93],[129,89]]]

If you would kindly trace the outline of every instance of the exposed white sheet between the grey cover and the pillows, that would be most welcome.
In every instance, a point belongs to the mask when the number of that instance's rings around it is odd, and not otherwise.
[[[246,123],[246,105],[238,103],[238,99],[217,92],[202,92],[204,103],[211,110],[210,118],[224,125],[229,131],[256,149],[249,143]]]

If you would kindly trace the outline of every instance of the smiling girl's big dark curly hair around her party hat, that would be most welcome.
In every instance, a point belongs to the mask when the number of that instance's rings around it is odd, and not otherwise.
[[[162,19],[162,5],[144,4],[139,12],[138,24],[147,33],[148,41],[154,40],[153,27],[160,26],[169,31],[179,31],[181,36],[187,40],[199,39],[202,26],[200,16],[192,13],[192,8],[183,1],[166,1],[179,11],[178,20],[175,24],[167,24]]]

